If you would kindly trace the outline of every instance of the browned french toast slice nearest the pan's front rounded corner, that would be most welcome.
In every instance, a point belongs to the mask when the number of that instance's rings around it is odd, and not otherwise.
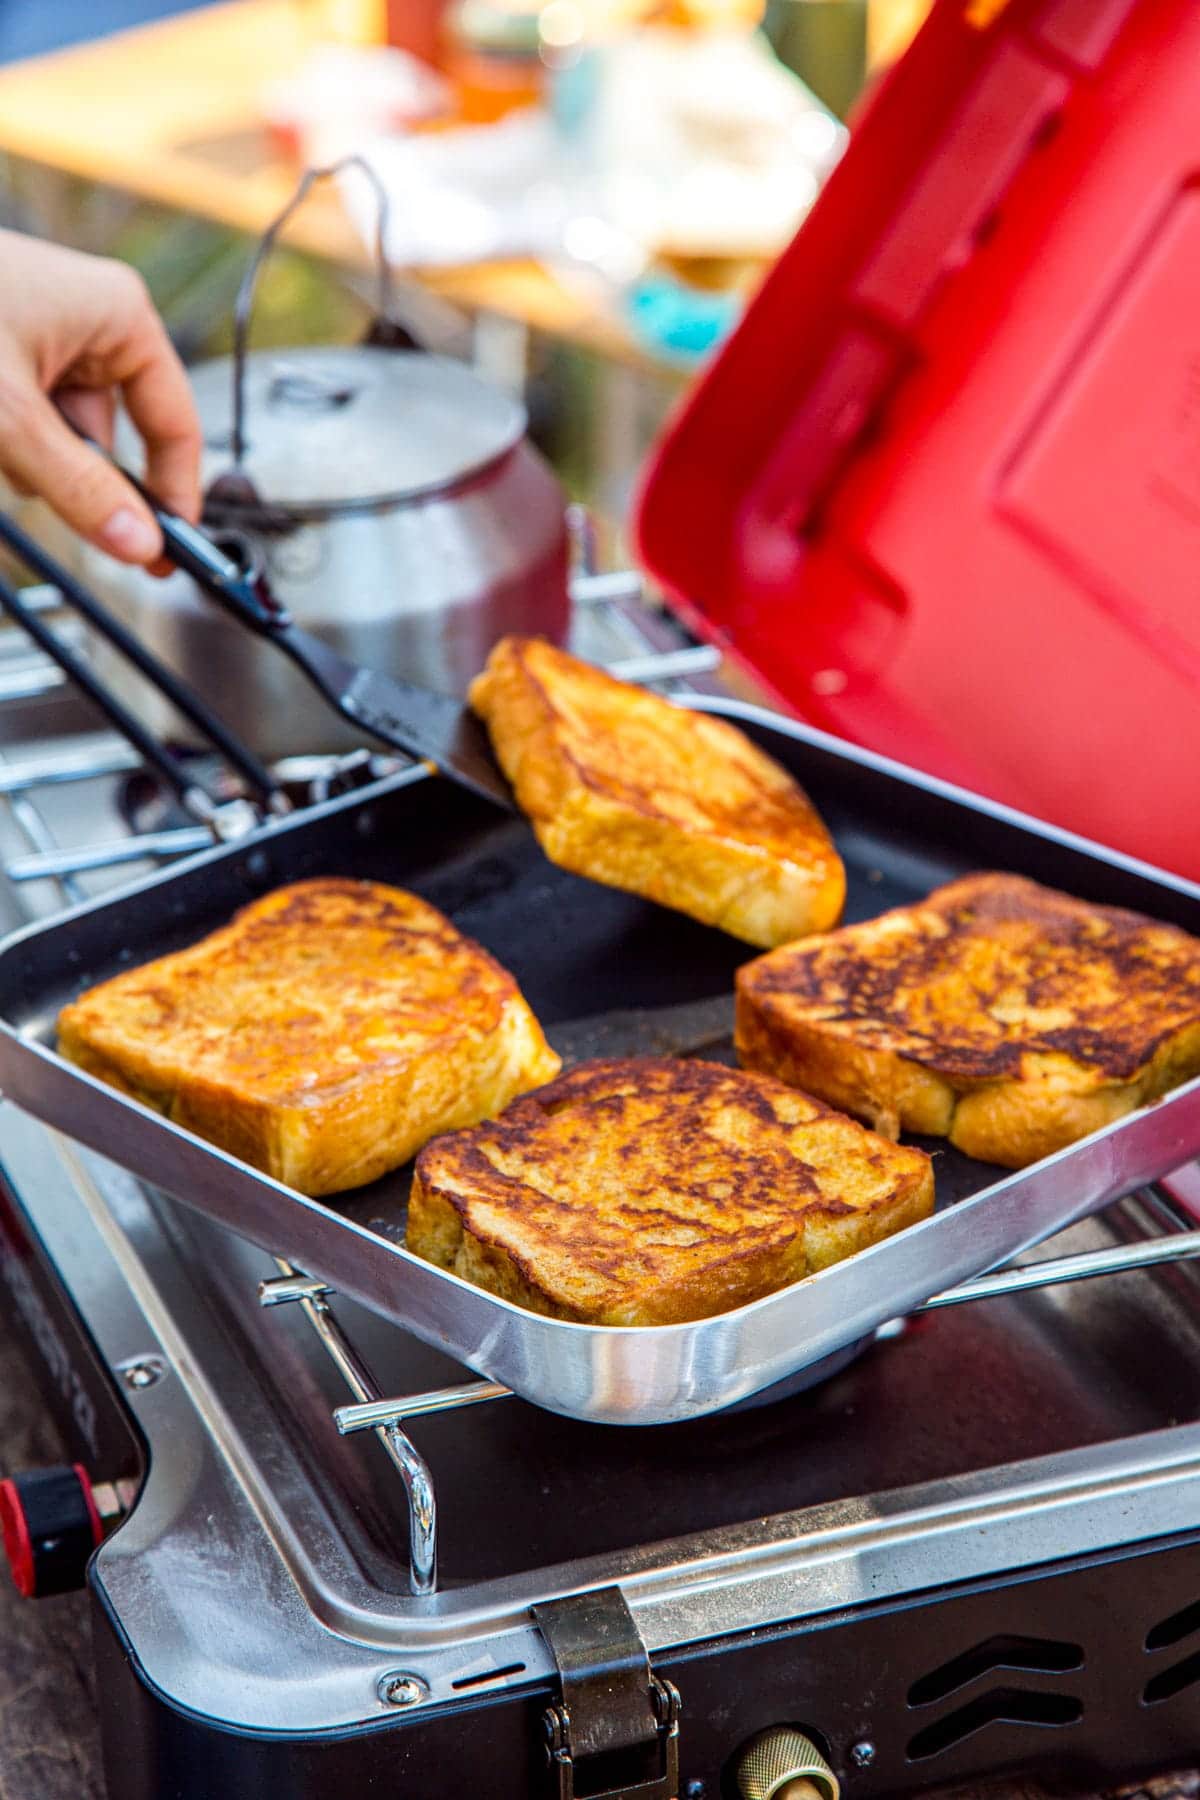
[[[585,1062],[428,1143],[408,1249],[533,1312],[669,1325],[925,1219],[923,1150],[712,1062]]]

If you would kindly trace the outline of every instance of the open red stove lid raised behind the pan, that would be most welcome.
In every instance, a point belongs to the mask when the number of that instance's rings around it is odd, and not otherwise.
[[[1200,5],[937,0],[658,446],[687,621],[1200,878]]]

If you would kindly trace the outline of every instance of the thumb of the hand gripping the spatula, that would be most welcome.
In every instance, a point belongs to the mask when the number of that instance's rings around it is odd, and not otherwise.
[[[146,500],[99,454],[85,445],[58,409],[31,382],[4,394],[0,461],[29,493],[36,493],[79,536],[128,563],[162,554],[162,533]]]

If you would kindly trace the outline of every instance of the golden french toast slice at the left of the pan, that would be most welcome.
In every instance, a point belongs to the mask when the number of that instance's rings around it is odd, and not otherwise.
[[[416,895],[279,887],[58,1021],[90,1075],[302,1193],[356,1188],[560,1060],[513,977]]]

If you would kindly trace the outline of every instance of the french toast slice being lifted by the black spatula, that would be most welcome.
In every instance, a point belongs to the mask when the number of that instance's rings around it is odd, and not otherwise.
[[[747,943],[842,916],[846,873],[792,776],[721,718],[504,637],[470,689],[551,862]]]

